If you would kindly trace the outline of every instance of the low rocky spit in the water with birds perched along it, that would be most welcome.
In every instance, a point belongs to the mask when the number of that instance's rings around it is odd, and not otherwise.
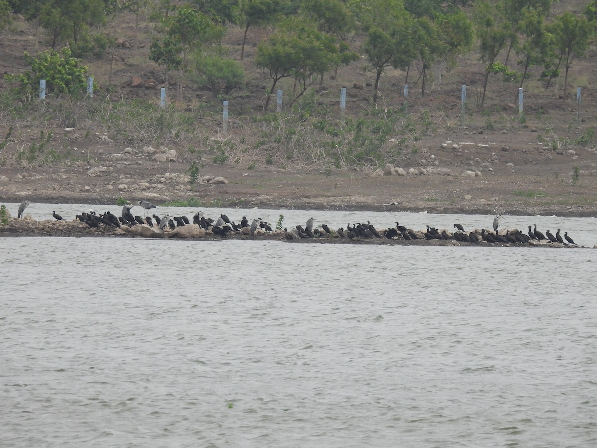
[[[211,229],[206,231],[197,224],[185,225],[175,229],[166,228],[164,231],[157,228],[151,228],[146,224],[135,225],[132,227],[122,226],[121,228],[100,226],[100,228],[90,228],[84,222],[79,220],[34,220],[30,217],[26,219],[11,218],[7,223],[0,224],[0,237],[103,237],[103,238],[175,238],[183,240],[198,241],[223,241],[223,240],[256,240],[256,241],[281,241],[285,243],[321,243],[321,244],[381,244],[381,245],[399,245],[399,246],[472,246],[472,247],[544,247],[544,248],[582,248],[581,246],[564,245],[559,243],[549,243],[548,241],[529,241],[528,243],[487,243],[479,238],[478,243],[465,243],[456,240],[427,240],[424,237],[424,231],[414,231],[418,240],[404,240],[402,237],[393,237],[388,239],[383,236],[379,229],[380,238],[356,237],[341,238],[336,231],[327,234],[316,229],[313,238],[293,238],[290,231],[266,232],[263,229],[257,229],[253,236],[250,235],[250,228],[241,229],[238,232],[231,232],[226,237],[214,234]],[[507,231],[515,229],[503,229],[501,235]],[[441,232],[441,230],[440,230]],[[446,231],[447,232],[447,231]],[[479,231],[476,231],[479,232]],[[452,235],[451,232],[447,232]]]

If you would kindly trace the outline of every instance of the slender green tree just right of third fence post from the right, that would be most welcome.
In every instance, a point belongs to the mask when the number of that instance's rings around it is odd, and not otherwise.
[[[487,82],[498,54],[506,45],[509,33],[504,24],[504,18],[497,13],[490,2],[482,0],[475,4],[473,18],[476,26],[476,35],[479,39],[479,58],[486,64],[481,99],[478,107],[482,108],[485,102]]]

